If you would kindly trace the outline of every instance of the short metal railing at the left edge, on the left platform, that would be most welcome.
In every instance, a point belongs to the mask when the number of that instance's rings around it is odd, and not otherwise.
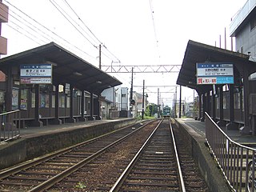
[[[0,114],[0,143],[20,136],[20,110]]]

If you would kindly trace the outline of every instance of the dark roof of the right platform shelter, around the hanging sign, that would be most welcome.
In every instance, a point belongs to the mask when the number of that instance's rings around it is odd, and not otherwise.
[[[256,63],[249,60],[247,54],[224,50],[216,46],[209,46],[200,42],[189,41],[182,62],[182,68],[178,74],[177,84],[197,90],[198,93],[206,93],[212,90],[212,85],[197,85],[196,63],[198,62],[228,62],[234,64],[234,74],[239,71],[253,73],[256,71]]]

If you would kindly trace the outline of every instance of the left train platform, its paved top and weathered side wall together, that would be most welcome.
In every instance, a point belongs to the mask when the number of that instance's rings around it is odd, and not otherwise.
[[[78,142],[85,142],[135,121],[135,118],[118,118],[22,128],[18,139],[0,144],[0,170]]]

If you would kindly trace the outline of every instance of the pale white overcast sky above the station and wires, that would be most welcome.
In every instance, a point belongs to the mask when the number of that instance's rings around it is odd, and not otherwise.
[[[182,65],[189,40],[230,50],[230,20],[246,0],[3,0],[9,22],[2,24],[8,54],[56,42],[94,66],[102,44],[102,66]],[[63,16],[65,15],[65,16]],[[221,38],[220,38],[221,36]],[[5,57],[5,56],[2,56]],[[130,88],[131,74],[110,74]],[[178,73],[134,74],[134,90],[150,102],[170,105]],[[164,87],[165,86],[165,87]],[[179,87],[177,94],[179,95]],[[182,87],[182,99],[194,92]]]

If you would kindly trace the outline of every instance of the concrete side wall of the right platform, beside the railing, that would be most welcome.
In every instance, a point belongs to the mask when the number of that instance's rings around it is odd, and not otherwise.
[[[205,138],[193,129],[188,128],[186,124],[179,124],[178,122],[175,122],[175,126],[178,127],[179,131],[182,133],[182,136],[184,137],[183,140],[186,141],[190,154],[198,163],[199,170],[205,178],[210,191],[232,191],[225,182],[224,176],[218,169],[214,158],[210,155],[210,151],[205,144]]]

